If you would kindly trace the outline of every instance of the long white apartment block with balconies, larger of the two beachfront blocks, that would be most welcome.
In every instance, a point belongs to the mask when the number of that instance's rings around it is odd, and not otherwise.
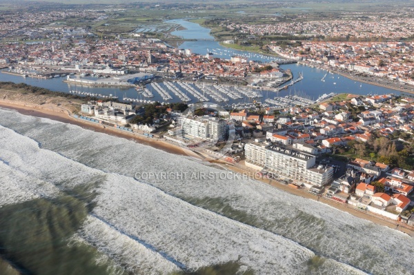
[[[333,181],[333,168],[316,165],[316,156],[283,145],[249,143],[244,147],[246,165],[263,167],[278,176],[310,187]]]

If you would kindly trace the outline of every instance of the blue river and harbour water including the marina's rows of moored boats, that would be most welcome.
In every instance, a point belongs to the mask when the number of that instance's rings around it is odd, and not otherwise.
[[[190,23],[185,20],[174,20],[173,23],[188,23],[191,28],[191,35],[193,37],[186,37],[186,33],[190,30],[179,30],[179,35],[185,39],[211,39],[212,37],[208,34],[209,30],[206,28],[199,27],[195,23]],[[198,26],[198,27],[197,27]],[[202,28],[202,29],[200,29]],[[204,32],[205,31],[205,32]],[[198,37],[196,37],[198,36]],[[192,52],[197,54],[206,54],[207,52],[215,52],[214,57],[228,58],[232,56],[246,57],[247,61],[259,61],[261,63],[268,63],[269,61],[277,62],[275,57],[266,57],[264,54],[255,54],[251,52],[233,50],[225,48],[220,45],[217,41],[185,41],[180,48],[188,48]],[[211,50],[210,50],[211,49]],[[272,59],[272,60],[270,60]],[[158,83],[159,86],[153,83],[146,85],[147,90],[140,90],[142,96],[147,101],[159,101],[159,102],[186,102],[186,103],[197,103],[203,101],[214,101],[217,103],[226,103],[227,105],[233,104],[247,104],[252,103],[253,100],[259,103],[270,104],[274,99],[275,92],[277,96],[287,96],[292,94],[294,90],[306,92],[306,97],[313,100],[317,100],[322,94],[339,94],[339,93],[350,93],[350,94],[404,94],[392,90],[390,88],[372,85],[366,83],[362,85],[360,81],[348,79],[342,77],[340,74],[335,72],[327,72],[327,70],[321,68],[311,68],[308,65],[301,64],[285,64],[281,65],[280,68],[283,70],[290,70],[293,75],[299,76],[297,79],[286,83],[284,86],[277,89],[257,90],[255,87],[248,88],[246,86],[229,86],[229,85],[213,85],[210,83],[197,82],[184,82],[178,81],[172,83],[170,88],[168,84],[163,82]],[[34,85],[40,88],[46,88],[57,92],[68,92],[72,90],[81,90],[88,92],[89,94],[101,94],[109,96],[110,94],[125,94],[125,98],[137,99],[137,90],[135,85],[129,83],[124,86],[109,87],[102,85],[100,87],[88,85],[88,81],[96,81],[98,77],[88,77],[86,74],[80,76],[79,82],[70,81],[70,83],[64,83],[62,79],[66,77],[52,77],[52,78],[37,78],[37,77],[21,77],[20,72],[8,72],[8,68],[3,69],[3,74],[0,74],[0,81],[12,81],[14,83],[26,83],[28,85]],[[29,71],[28,71],[29,72]],[[59,74],[70,74],[70,73],[59,73]],[[302,77],[300,77],[302,75]],[[338,78],[339,77],[339,78]],[[70,78],[77,80],[75,78]],[[324,81],[321,81],[321,80]],[[255,79],[253,83],[261,82],[262,79]],[[166,81],[165,81],[166,82]],[[276,82],[276,81],[275,81]],[[253,85],[253,84],[252,84]],[[155,88],[157,87],[157,89]],[[175,88],[172,88],[175,87]],[[204,87],[204,88],[203,88]],[[172,89],[172,90],[170,90]],[[164,92],[165,91],[165,92]],[[81,94],[82,95],[82,94]],[[88,94],[86,94],[88,95]],[[270,99],[266,101],[266,99]],[[139,99],[138,99],[139,100]],[[143,99],[144,100],[144,99]],[[279,103],[277,103],[279,104]]]

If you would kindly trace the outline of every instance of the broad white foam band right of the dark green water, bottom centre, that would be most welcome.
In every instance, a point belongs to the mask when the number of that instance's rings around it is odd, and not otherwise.
[[[314,255],[293,241],[195,207],[126,176],[110,174],[99,194],[97,216],[128,236],[139,236],[188,269],[240,261],[259,274],[272,269],[297,274]]]

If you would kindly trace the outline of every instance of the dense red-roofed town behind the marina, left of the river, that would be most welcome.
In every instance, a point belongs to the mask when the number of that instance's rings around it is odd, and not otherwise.
[[[151,54],[150,54],[151,51]],[[151,56],[151,59],[150,59]],[[66,39],[39,43],[6,43],[0,49],[0,64],[8,66],[110,66],[142,71],[182,72],[215,77],[246,77],[263,67],[242,57],[230,60],[213,54],[168,48],[158,39]],[[272,69],[279,71],[279,69]],[[273,72],[274,73],[274,72]]]

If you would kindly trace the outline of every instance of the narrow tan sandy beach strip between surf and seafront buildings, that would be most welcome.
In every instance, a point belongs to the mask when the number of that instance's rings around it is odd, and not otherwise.
[[[196,159],[199,159],[201,161],[208,161],[209,163],[217,164],[226,170],[230,170],[238,174],[243,174],[246,172],[253,172],[253,173],[257,172],[256,170],[253,170],[250,167],[247,167],[246,165],[244,165],[244,161],[241,161],[240,163],[237,163],[236,165],[234,165],[234,164],[227,163],[226,161],[221,160],[221,159],[213,159],[210,156],[203,154],[201,152],[197,154],[191,150],[186,150],[185,148],[180,147],[179,145],[168,143],[164,140],[157,140],[157,139],[152,139],[149,137],[139,136],[138,133],[124,132],[122,130],[116,130],[115,128],[110,128],[110,127],[103,128],[103,125],[100,125],[97,123],[83,121],[81,119],[75,119],[74,117],[71,116],[70,110],[66,108],[62,108],[61,106],[57,106],[57,105],[52,105],[52,104],[37,105],[34,103],[25,103],[21,101],[9,101],[5,99],[0,99],[0,108],[15,110],[19,112],[20,114],[24,114],[24,115],[52,119],[52,120],[60,121],[63,123],[70,123],[70,124],[78,125],[81,128],[84,128],[86,130],[92,130],[95,132],[110,134],[112,136],[117,136],[117,137],[121,137],[124,139],[129,139],[129,140],[132,139],[133,141],[137,143],[148,145],[156,149],[163,150],[164,152],[168,152],[170,154],[177,154],[180,156],[190,156],[190,157],[195,157]],[[277,181],[274,181],[274,180],[263,179],[263,178],[256,179],[256,180],[259,180],[262,183],[271,185],[284,192],[288,192],[296,196],[301,196],[302,198],[308,198],[308,199],[312,199],[313,201],[319,201],[320,203],[330,205],[331,207],[335,207],[337,210],[348,212],[348,214],[351,214],[358,218],[362,218],[366,221],[371,221],[373,223],[376,223],[377,225],[384,225],[393,230],[404,232],[405,234],[408,234],[409,236],[414,236],[414,228],[408,227],[409,225],[406,225],[404,223],[388,220],[385,217],[383,218],[382,216],[377,216],[375,214],[371,214],[371,213],[368,214],[368,212],[361,212],[351,207],[351,205],[346,205],[344,203],[331,201],[328,198],[315,196],[314,194],[308,193],[303,189],[294,189],[293,187],[289,187],[288,185],[283,185],[282,183],[278,183]]]

